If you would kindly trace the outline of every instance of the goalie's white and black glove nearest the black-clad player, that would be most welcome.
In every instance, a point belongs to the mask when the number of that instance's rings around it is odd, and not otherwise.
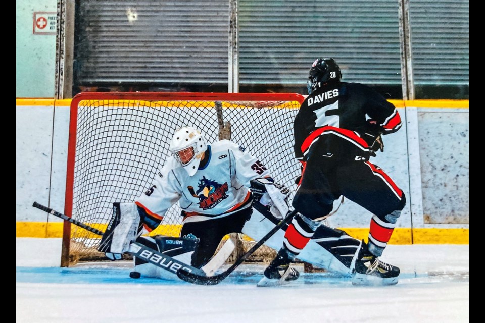
[[[263,177],[250,181],[254,199],[269,207],[270,212],[277,219],[283,219],[289,212],[289,189],[274,182],[272,178]]]

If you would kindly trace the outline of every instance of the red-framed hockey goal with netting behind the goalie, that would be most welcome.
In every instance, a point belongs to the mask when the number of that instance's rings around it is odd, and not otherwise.
[[[245,147],[295,191],[300,165],[293,120],[304,99],[297,93],[79,93],[70,108],[64,212],[104,232],[113,202],[132,202],[149,188],[182,126],[200,129],[208,143],[229,139]],[[179,236],[181,220],[174,205],[151,235]],[[252,241],[238,236],[242,254]],[[105,259],[96,250],[100,239],[65,221],[61,266]],[[269,261],[274,254],[262,246],[248,260]]]

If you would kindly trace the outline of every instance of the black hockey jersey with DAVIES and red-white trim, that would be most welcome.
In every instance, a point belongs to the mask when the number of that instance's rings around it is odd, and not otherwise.
[[[394,104],[369,86],[328,83],[305,99],[295,118],[295,157],[306,161],[317,141],[328,156],[369,156],[379,133],[393,133],[401,126]]]

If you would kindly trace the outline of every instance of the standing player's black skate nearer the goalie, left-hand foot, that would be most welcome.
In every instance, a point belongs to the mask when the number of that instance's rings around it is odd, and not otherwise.
[[[295,268],[290,267],[290,262],[288,253],[284,249],[279,250],[274,260],[264,270],[264,277],[256,286],[279,286],[298,279],[300,273]]]

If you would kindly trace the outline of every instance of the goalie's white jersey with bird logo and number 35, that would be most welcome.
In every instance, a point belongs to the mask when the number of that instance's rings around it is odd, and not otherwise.
[[[228,216],[250,207],[250,181],[271,173],[244,147],[229,140],[208,145],[207,163],[189,176],[170,156],[155,181],[135,203],[160,220],[176,202],[185,212],[184,221]]]

